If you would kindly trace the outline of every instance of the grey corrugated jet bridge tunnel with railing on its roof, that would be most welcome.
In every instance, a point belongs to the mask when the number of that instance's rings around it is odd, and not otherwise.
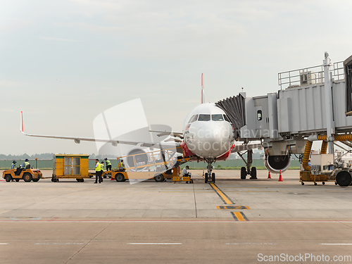
[[[247,97],[246,125],[241,127],[241,139],[276,141],[327,133],[327,130],[333,134],[351,132],[352,116],[346,113],[352,111],[352,56],[329,68],[328,93],[324,65],[319,65],[279,73],[277,93]],[[331,124],[327,118],[330,112]]]

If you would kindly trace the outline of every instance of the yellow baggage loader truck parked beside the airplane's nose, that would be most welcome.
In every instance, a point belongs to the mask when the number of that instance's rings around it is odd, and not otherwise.
[[[183,158],[183,156],[177,156],[175,153],[182,153],[182,148],[119,157],[118,170],[111,171],[111,178],[115,179],[116,182],[147,179],[163,182],[165,179],[180,177],[180,165],[189,161],[190,158]],[[126,161],[125,168],[122,166],[122,160]]]

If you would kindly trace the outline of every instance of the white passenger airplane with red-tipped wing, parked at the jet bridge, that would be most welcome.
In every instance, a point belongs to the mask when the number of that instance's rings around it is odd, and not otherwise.
[[[215,105],[215,103],[205,103],[204,101],[204,82],[203,73],[201,75],[201,104],[193,108],[184,120],[184,129],[182,133],[175,132],[159,132],[158,135],[168,134],[172,137],[178,137],[175,140],[176,146],[181,146],[184,157],[191,157],[191,161],[205,161],[208,163],[208,172],[205,174],[206,182],[215,182],[215,173],[212,173],[212,163],[215,161],[225,161],[231,153],[261,148],[261,144],[234,144],[236,139],[234,125],[230,121],[225,111]],[[56,139],[73,139],[75,143],[81,141],[89,142],[105,142],[114,146],[117,144],[130,144],[139,147],[157,147],[163,149],[175,147],[175,144],[167,144],[160,142],[138,142],[116,139],[96,139],[84,137],[61,137],[48,136],[39,134],[26,134],[23,131],[23,113],[21,112],[21,132],[30,137],[46,137]],[[243,167],[244,168],[244,167]],[[242,168],[242,170],[243,170]],[[246,172],[246,171],[245,171]],[[241,171],[243,179],[244,172]],[[246,174],[249,174],[247,172]],[[256,179],[256,169],[253,167],[251,171],[252,178]],[[245,177],[245,176],[244,176]]]

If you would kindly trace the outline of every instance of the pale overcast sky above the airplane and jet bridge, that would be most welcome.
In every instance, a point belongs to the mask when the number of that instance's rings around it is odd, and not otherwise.
[[[277,92],[277,73],[352,55],[352,1],[0,0],[0,153],[96,153],[25,131],[93,137],[93,120],[140,98],[182,131],[201,100]],[[129,115],[129,113],[121,113]],[[116,122],[119,118],[116,117]],[[123,124],[121,124],[123,125]]]

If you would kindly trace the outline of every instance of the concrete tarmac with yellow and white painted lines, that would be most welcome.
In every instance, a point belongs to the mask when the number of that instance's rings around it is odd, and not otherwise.
[[[352,187],[191,172],[194,184],[1,179],[0,263],[352,262]]]

